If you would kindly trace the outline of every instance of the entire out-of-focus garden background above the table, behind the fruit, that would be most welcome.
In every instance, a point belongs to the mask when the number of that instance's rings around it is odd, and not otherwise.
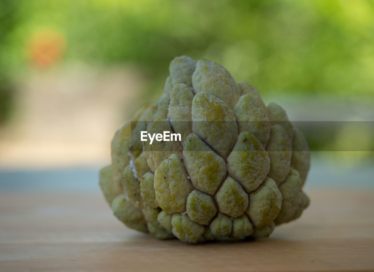
[[[1,0],[0,188],[96,190],[114,132],[179,55],[293,121],[341,121],[304,131],[308,186],[374,185],[372,0]]]

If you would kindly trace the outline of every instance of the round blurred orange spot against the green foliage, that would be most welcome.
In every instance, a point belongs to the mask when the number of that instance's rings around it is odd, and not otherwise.
[[[50,66],[61,59],[65,51],[65,38],[56,30],[39,30],[31,35],[28,51],[33,64]]]

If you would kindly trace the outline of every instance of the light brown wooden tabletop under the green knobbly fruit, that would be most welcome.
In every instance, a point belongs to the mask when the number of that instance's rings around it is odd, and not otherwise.
[[[99,193],[0,193],[0,271],[374,271],[374,191],[307,190],[257,241],[184,244],[125,227]]]

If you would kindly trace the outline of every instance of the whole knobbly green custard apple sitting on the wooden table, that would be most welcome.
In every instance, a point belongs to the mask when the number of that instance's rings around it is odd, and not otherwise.
[[[114,135],[99,184],[126,226],[184,242],[269,236],[309,205],[310,154],[275,103],[221,65],[188,56],[169,67],[159,100]],[[141,141],[170,131],[180,141]]]

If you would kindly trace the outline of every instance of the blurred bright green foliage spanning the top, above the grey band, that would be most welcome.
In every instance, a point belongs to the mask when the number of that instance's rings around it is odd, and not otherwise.
[[[2,0],[0,68],[30,61],[43,28],[66,41],[62,61],[132,63],[162,86],[171,59],[212,59],[269,91],[374,93],[373,0]]]

